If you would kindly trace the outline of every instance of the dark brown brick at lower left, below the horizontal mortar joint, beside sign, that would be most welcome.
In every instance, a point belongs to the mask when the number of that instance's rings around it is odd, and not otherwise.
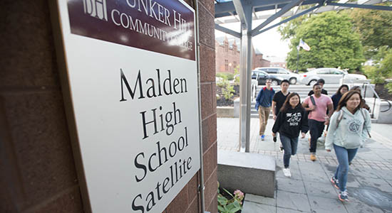
[[[61,92],[2,96],[26,206],[76,185]]]

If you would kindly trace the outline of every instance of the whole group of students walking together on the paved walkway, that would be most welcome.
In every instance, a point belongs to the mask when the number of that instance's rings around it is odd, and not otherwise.
[[[267,80],[256,98],[256,109],[259,112],[259,135],[265,138],[265,129],[272,109],[274,126],[272,136],[276,141],[277,133],[284,151],[283,173],[291,177],[290,158],[296,154],[298,138],[304,138],[310,132],[310,160],[316,160],[317,140],[327,126],[325,149],[332,148],[336,153],[339,165],[331,177],[331,182],[339,189],[339,200],[349,201],[346,190],[349,165],[354,159],[358,148],[370,136],[371,118],[368,107],[361,96],[361,88],[342,84],[332,97],[323,89],[324,80],[313,85],[308,97],[301,103],[299,94],[289,92],[289,81],[281,82],[281,90],[275,93],[271,80]],[[365,109],[363,109],[365,108]],[[366,110],[367,109],[367,110]]]

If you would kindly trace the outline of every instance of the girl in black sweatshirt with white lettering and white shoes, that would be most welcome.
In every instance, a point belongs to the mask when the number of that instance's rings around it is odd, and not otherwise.
[[[284,148],[283,174],[286,177],[292,177],[289,168],[290,158],[296,154],[299,132],[301,131],[301,138],[304,138],[308,130],[308,118],[305,109],[301,106],[299,94],[293,92],[287,96],[275,120],[274,127],[272,127],[272,136],[275,136],[279,131],[280,141],[282,141]]]

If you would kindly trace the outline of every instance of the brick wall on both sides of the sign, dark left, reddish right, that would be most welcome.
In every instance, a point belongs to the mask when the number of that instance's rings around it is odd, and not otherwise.
[[[83,212],[48,1],[3,0],[0,13],[0,212]],[[217,212],[214,1],[200,1],[200,40],[205,207]],[[166,213],[200,212],[198,176]]]

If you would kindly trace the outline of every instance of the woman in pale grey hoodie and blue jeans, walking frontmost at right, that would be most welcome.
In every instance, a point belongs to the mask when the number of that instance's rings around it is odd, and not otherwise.
[[[362,109],[363,99],[356,90],[346,92],[331,117],[329,131],[326,134],[325,149],[334,148],[339,165],[331,182],[339,188],[339,200],[349,201],[346,183],[349,163],[354,159],[358,148],[370,137],[371,119],[368,111]]]

